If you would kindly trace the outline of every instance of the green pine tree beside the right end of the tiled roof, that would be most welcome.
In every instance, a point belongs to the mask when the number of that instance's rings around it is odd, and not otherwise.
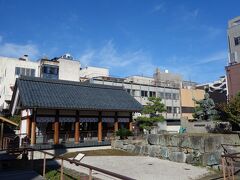
[[[166,109],[165,105],[161,102],[161,98],[149,97],[148,101],[149,102],[142,110],[142,116],[137,118],[137,122],[141,129],[146,129],[150,133],[157,122],[164,121],[164,117],[161,113],[165,112]]]

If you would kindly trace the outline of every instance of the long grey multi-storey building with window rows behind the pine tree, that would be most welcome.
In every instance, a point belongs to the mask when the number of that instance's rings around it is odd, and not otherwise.
[[[93,84],[105,84],[123,87],[143,106],[147,104],[148,97],[161,97],[166,106],[163,113],[166,119],[166,129],[178,131],[181,118],[180,88],[181,77],[168,72],[157,70],[154,77],[130,76],[127,78],[94,77],[89,80]],[[164,79],[159,79],[159,76]],[[163,76],[163,77],[162,77]],[[171,77],[171,78],[169,78]]]

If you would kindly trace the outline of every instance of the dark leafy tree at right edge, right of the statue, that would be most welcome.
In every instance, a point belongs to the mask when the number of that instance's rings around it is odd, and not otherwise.
[[[240,123],[240,92],[228,104],[222,104],[220,109],[221,119],[229,122]]]

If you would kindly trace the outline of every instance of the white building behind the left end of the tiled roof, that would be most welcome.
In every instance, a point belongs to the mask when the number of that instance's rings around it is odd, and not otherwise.
[[[0,57],[0,112],[8,109],[15,80],[21,75],[80,81],[83,77],[108,76],[109,71],[97,67],[81,69],[80,62],[74,60],[70,54],[37,61],[30,61],[27,55],[21,58]]]

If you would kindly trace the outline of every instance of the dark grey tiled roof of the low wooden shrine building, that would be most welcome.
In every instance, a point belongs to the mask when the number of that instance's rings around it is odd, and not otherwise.
[[[20,77],[15,86],[14,91],[19,89],[23,108],[109,111],[142,109],[142,105],[122,87],[33,77]]]

